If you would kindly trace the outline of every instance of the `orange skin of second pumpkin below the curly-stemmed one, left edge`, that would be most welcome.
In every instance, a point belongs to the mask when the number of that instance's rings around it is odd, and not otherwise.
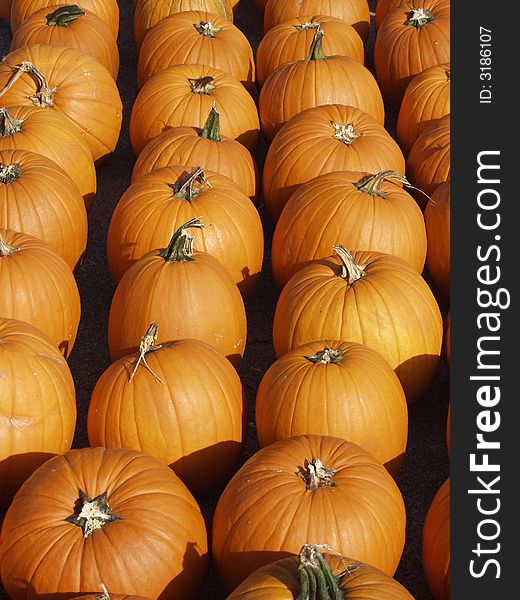
[[[55,162],[28,150],[0,150],[0,164],[20,166],[2,183],[0,229],[45,240],[75,269],[87,247],[87,211],[78,186]]]

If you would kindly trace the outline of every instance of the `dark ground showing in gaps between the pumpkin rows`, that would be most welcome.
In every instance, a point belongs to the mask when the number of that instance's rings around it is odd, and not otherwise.
[[[370,1],[371,9],[375,0]],[[132,103],[137,94],[137,51],[133,37],[133,2],[119,0],[121,21],[119,51],[121,67],[117,84],[124,106],[124,120],[115,153],[98,167],[98,192],[89,216],[89,241],[83,264],[76,273],[81,299],[82,318],[76,345],[69,365],[76,383],[78,420],[73,447],[88,445],[86,414],[90,394],[103,371],[110,364],[107,346],[107,322],[114,285],[108,274],[105,258],[105,240],[112,211],[130,184],[135,161],[128,137],[128,122]],[[262,18],[253,0],[241,0],[235,24],[247,35],[256,50],[262,36]],[[0,56],[8,52],[9,29],[0,22]],[[373,31],[367,47],[366,65],[372,66]],[[395,113],[387,107],[387,128],[393,131]],[[256,159],[263,163],[266,145],[261,141]],[[270,244],[272,227],[260,208],[265,232],[265,260],[258,287],[246,302],[248,341],[240,375],[249,401],[249,432],[242,456],[246,460],[258,448],[254,425],[254,398],[262,375],[275,360],[271,344],[271,326],[278,292],[270,271]],[[407,542],[396,572],[398,579],[416,600],[431,600],[424,580],[421,563],[422,525],[435,492],[446,479],[449,463],[445,444],[446,414],[449,401],[449,382],[441,361],[437,375],[428,393],[416,403],[409,414],[408,448],[398,478],[407,508]],[[201,504],[208,531],[218,497]],[[0,515],[1,518],[1,515]],[[0,600],[7,598],[0,585]],[[201,595],[204,600],[223,600],[212,573]]]

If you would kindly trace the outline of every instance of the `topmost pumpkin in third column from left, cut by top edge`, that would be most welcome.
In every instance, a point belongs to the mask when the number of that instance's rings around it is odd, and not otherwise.
[[[370,31],[367,0],[268,0],[264,9],[264,32],[295,17],[322,15],[352,25],[366,42]]]

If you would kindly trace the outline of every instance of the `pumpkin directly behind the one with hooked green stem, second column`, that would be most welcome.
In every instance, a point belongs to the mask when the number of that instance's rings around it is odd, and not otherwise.
[[[260,216],[233,181],[201,167],[155,169],[126,190],[108,228],[112,279],[119,282],[139,258],[167,246],[175,230],[197,216],[206,226],[194,234],[195,248],[217,258],[247,296],[262,270]]]

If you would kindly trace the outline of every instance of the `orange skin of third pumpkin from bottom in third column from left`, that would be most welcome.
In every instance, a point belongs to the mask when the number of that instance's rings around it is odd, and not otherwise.
[[[342,361],[315,364],[306,358],[325,348],[342,351]],[[285,354],[265,373],[256,394],[256,431],[261,448],[296,435],[344,438],[395,476],[408,438],[406,398],[397,376],[374,350],[315,341]]]

